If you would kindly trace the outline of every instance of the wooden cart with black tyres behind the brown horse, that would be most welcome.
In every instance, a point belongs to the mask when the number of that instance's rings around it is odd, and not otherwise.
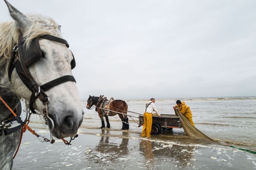
[[[139,125],[144,125],[143,115],[139,115]],[[159,135],[163,130],[181,128],[181,117],[176,115],[161,114],[160,117],[152,116],[152,135]]]

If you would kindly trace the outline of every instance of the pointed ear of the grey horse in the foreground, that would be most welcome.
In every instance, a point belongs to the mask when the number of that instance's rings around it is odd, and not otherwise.
[[[5,3],[8,6],[9,12],[12,16],[12,18],[17,22],[17,24],[20,27],[20,30],[22,33],[25,32],[25,30],[28,30],[28,28],[31,26],[32,21],[30,21],[29,18],[27,18],[26,15],[21,13],[18,9],[13,7],[7,0],[5,0]]]

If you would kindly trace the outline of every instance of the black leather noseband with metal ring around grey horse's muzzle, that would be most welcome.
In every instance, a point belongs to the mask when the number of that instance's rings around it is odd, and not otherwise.
[[[34,104],[34,102],[36,101],[36,99],[37,98],[39,98],[41,101],[42,101],[42,99],[46,99],[46,101],[45,102],[49,102],[49,98],[48,98],[48,96],[45,94],[45,92],[47,91],[47,90],[49,90],[49,89],[51,89],[51,88],[53,88],[54,86],[57,86],[57,85],[59,85],[59,84],[62,84],[62,83],[65,83],[65,82],[67,82],[67,81],[74,81],[74,82],[76,82],[75,81],[75,78],[72,76],[72,75],[64,75],[64,76],[62,76],[62,77],[59,77],[59,78],[56,78],[56,79],[54,79],[54,80],[52,80],[52,81],[50,81],[50,82],[48,82],[48,83],[45,83],[45,84],[43,84],[42,86],[39,86],[39,93],[34,93],[34,92],[32,92],[32,95],[30,96],[30,101],[29,101],[29,109],[33,112],[33,113],[35,113],[36,114],[36,111],[35,111],[35,109],[33,108],[33,104]],[[42,99],[41,99],[41,96],[42,96]],[[45,96],[47,96],[46,98],[45,98]],[[48,101],[47,101],[47,99],[48,99]]]

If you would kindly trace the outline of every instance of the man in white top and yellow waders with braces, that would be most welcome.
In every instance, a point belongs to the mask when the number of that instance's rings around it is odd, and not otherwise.
[[[158,116],[161,116],[158,112],[157,108],[155,107],[155,99],[151,98],[150,101],[146,103],[146,109],[145,113],[143,115],[144,119],[144,125],[142,129],[142,137],[150,137],[151,128],[152,128],[152,114],[157,114]]]

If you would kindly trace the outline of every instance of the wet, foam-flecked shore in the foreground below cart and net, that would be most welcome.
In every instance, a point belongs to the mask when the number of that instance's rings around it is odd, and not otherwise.
[[[254,154],[185,136],[181,142],[172,132],[147,139],[128,130],[87,130],[81,128],[71,146],[39,142],[26,132],[13,169],[256,169]],[[46,129],[36,132],[49,136]]]

